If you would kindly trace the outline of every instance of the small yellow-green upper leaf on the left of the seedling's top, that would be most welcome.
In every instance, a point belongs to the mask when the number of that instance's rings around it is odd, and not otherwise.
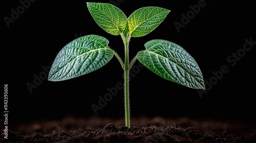
[[[106,32],[119,35],[124,31],[127,18],[119,8],[105,3],[87,3],[87,7],[96,23]]]

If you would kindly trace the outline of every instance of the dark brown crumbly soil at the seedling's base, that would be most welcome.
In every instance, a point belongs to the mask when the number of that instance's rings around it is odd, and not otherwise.
[[[256,142],[256,126],[238,121],[189,117],[123,118],[65,116],[8,126],[0,142]],[[2,127],[1,130],[3,131]]]

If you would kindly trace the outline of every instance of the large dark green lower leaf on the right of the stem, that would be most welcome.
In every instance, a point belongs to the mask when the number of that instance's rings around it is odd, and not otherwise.
[[[146,42],[145,47],[145,51],[138,52],[138,60],[155,74],[187,87],[205,89],[197,62],[180,45],[156,39]]]

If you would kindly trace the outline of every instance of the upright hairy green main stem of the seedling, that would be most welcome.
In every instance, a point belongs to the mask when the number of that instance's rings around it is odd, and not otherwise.
[[[125,110],[125,126],[130,128],[130,98],[129,98],[129,41],[131,36],[126,39],[121,35],[124,42],[124,110]]]

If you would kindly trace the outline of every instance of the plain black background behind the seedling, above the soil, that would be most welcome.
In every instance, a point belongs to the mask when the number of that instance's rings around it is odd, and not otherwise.
[[[9,124],[65,115],[94,115],[91,105],[98,105],[98,97],[104,97],[109,92],[108,87],[123,82],[123,70],[115,57],[99,70],[79,78],[51,82],[44,77],[46,72],[42,67],[49,67],[61,48],[78,36],[101,35],[110,41],[111,49],[124,57],[121,37],[103,31],[90,15],[86,2],[90,1],[31,2],[9,28],[4,17],[10,18],[11,9],[16,11],[21,3],[4,1],[6,4],[2,4],[2,77],[3,84],[8,84],[9,89]],[[181,14],[186,15],[191,11],[189,6],[198,5],[199,1],[112,2],[117,2],[116,6],[127,17],[146,6],[171,10],[153,32],[143,37],[132,37],[130,58],[144,50],[145,42],[166,39],[181,45],[195,58],[208,82],[214,77],[212,71],[221,70],[223,65],[228,67],[228,72],[223,73],[217,83],[211,81],[212,87],[206,86],[207,93],[201,94],[202,97],[197,89],[166,81],[145,67],[139,68],[130,82],[131,116],[188,116],[253,124],[255,44],[236,63],[227,60],[232,53],[243,52],[245,39],[256,41],[252,2],[205,0],[206,6],[180,28],[180,32],[174,22],[182,23]],[[134,65],[138,65],[138,61]],[[35,84],[35,76],[43,79],[30,92],[27,84]],[[123,117],[123,103],[123,90],[118,90],[117,96],[98,110],[97,115]]]

